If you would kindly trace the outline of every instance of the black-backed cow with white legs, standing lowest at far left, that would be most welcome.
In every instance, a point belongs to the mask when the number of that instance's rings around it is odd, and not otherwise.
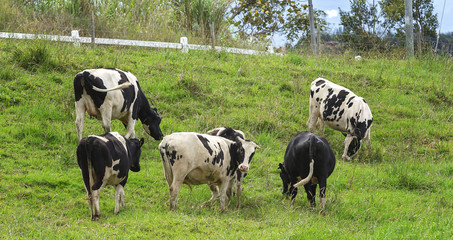
[[[124,207],[124,186],[129,169],[140,171],[140,154],[143,138],[127,139],[117,132],[83,138],[77,146],[77,163],[82,172],[88,194],[91,220],[101,216],[99,194],[107,186],[115,187],[115,214]]]

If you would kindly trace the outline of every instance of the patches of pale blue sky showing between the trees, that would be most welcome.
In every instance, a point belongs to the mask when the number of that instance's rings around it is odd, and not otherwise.
[[[368,0],[370,2],[370,0]],[[307,3],[307,0],[302,2]],[[329,24],[331,30],[338,29],[340,27],[340,13],[339,8],[342,11],[350,11],[349,0],[312,0],[313,7],[315,9],[323,10],[327,16],[326,21]],[[379,2],[379,0],[376,0]],[[442,18],[442,10],[445,10]],[[440,25],[440,32],[447,33],[453,32],[453,0],[433,0],[434,13],[437,13],[437,20]],[[441,19],[442,18],[442,19]],[[437,29],[439,31],[439,29]],[[285,39],[282,36],[275,36],[273,38],[274,46],[282,46],[285,44]]]

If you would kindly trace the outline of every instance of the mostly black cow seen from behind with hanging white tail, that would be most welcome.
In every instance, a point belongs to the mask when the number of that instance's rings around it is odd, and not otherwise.
[[[300,132],[290,141],[283,163],[279,164],[283,181],[283,194],[294,201],[297,188],[304,186],[308,202],[315,204],[316,186],[319,184],[321,212],[326,205],[327,178],[335,168],[335,155],[327,140],[311,132]]]

